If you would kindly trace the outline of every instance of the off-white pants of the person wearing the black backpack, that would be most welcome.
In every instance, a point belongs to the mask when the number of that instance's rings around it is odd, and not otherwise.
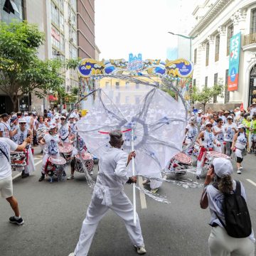
[[[208,239],[210,256],[254,256],[255,244],[250,238],[232,238],[225,228],[212,228]]]

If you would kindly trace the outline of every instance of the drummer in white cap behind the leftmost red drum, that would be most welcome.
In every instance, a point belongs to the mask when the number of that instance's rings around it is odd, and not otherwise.
[[[18,119],[18,124],[19,124],[19,127],[14,130],[13,136],[17,134],[17,144],[21,145],[23,144],[26,137],[33,137],[33,132],[31,129],[28,128],[26,119],[23,119],[23,118]],[[28,144],[28,146],[26,146],[26,150],[27,150],[27,157],[28,157],[28,160],[27,160],[28,165],[24,166],[24,170],[21,173],[21,178],[28,177],[33,171],[36,170],[35,163],[33,160],[32,150],[31,150],[31,144]]]

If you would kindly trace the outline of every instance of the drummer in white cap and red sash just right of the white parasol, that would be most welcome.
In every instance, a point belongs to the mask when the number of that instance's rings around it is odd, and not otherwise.
[[[220,146],[220,142],[215,139],[214,134],[212,132],[213,124],[209,121],[206,121],[206,130],[202,131],[196,142],[198,142],[199,146],[201,147],[199,154],[198,154],[198,161],[196,167],[196,178],[199,179],[202,173],[203,163],[206,159],[206,151],[213,151],[214,144]]]

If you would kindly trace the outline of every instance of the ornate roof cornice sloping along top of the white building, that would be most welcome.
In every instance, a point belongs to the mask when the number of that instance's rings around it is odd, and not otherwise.
[[[208,26],[208,24],[215,19],[221,11],[223,11],[232,1],[234,0],[217,0],[209,11],[201,18],[201,20],[196,24],[196,26],[189,33],[189,36],[195,36],[200,33],[203,28]]]

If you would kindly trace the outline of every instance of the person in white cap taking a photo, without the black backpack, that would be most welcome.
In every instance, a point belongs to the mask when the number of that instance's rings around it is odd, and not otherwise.
[[[225,230],[225,215],[223,213],[224,194],[234,193],[238,181],[231,177],[233,166],[228,159],[213,159],[213,167],[210,168],[204,182],[205,188],[201,196],[202,209],[210,208],[210,226],[212,226],[208,239],[210,256],[254,256],[255,237],[253,230],[247,238],[233,238]],[[213,178],[217,182],[210,185]],[[245,187],[240,182],[240,194],[246,201]]]

